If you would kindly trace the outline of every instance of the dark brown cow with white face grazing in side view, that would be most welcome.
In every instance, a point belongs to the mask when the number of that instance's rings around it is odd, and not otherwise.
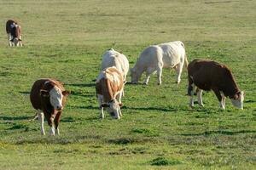
[[[202,90],[213,90],[221,109],[225,109],[225,97],[229,97],[234,106],[243,109],[243,92],[237,87],[230,69],[212,60],[195,59],[188,66],[190,106],[194,106],[194,88],[198,88],[199,105],[203,106]]]

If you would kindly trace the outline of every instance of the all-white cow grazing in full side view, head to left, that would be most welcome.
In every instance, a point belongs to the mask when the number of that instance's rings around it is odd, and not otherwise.
[[[187,56],[183,42],[166,42],[145,48],[131,68],[131,83],[137,83],[143,72],[146,71],[148,84],[150,75],[157,72],[158,84],[161,84],[162,68],[174,68],[177,71],[177,83],[181,81],[183,64],[188,66]]]

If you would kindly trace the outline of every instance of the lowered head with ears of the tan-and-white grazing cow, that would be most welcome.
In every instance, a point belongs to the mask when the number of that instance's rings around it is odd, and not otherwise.
[[[116,99],[112,99],[107,104],[103,104],[102,107],[106,107],[108,113],[113,118],[119,119],[122,115],[120,107],[123,106],[123,104],[120,104]]]

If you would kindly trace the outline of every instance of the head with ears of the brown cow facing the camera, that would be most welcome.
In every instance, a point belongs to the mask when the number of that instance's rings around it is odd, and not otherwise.
[[[61,111],[63,109],[62,99],[63,96],[67,96],[68,94],[70,94],[69,91],[61,91],[57,86],[54,86],[49,91],[44,89],[40,90],[40,95],[45,98],[49,98],[50,105],[52,105],[57,111]]]

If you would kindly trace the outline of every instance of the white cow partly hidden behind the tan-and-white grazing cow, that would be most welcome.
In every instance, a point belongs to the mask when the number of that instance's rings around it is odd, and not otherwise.
[[[106,51],[102,57],[102,71],[108,67],[115,66],[123,74],[124,81],[129,71],[129,61],[124,54],[120,54],[113,48]]]

